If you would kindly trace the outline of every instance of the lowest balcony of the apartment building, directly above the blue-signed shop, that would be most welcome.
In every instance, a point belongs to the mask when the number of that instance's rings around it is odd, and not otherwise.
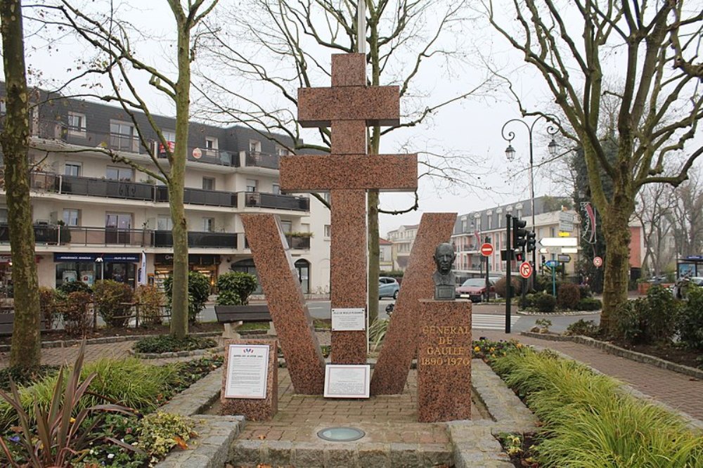
[[[34,225],[34,242],[37,245],[149,247],[153,243],[152,238],[153,232],[150,230]],[[0,225],[0,243],[8,242],[10,230],[6,224]]]

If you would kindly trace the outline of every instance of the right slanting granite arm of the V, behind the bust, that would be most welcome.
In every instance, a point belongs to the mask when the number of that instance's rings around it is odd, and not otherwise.
[[[371,376],[372,395],[401,394],[418,349],[420,299],[434,297],[434,248],[451,237],[456,213],[425,213],[408,261],[388,332]]]

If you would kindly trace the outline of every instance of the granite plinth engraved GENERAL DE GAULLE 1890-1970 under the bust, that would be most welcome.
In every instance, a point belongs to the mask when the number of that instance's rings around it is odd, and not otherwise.
[[[418,421],[471,419],[471,302],[420,301]]]

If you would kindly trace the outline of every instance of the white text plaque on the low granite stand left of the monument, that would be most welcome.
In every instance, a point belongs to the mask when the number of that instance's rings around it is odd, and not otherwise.
[[[225,398],[266,398],[267,377],[269,377],[268,345],[229,345]]]

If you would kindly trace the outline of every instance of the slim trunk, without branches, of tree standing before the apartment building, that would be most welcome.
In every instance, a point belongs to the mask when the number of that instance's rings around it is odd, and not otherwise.
[[[176,82],[176,147],[171,161],[169,204],[173,221],[174,273],[172,283],[171,334],[188,334],[188,222],[183,208],[183,186],[188,158],[188,118],[191,107],[190,30],[186,18],[176,17],[178,31],[178,67]]]

